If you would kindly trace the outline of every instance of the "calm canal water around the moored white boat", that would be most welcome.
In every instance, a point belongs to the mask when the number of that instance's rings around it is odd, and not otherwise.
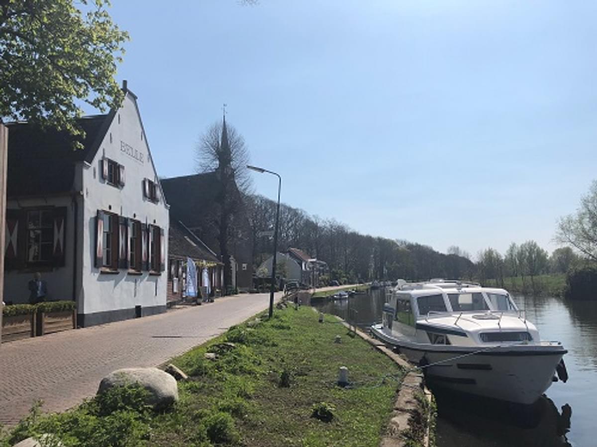
[[[570,378],[567,383],[553,383],[544,398],[523,410],[437,393],[438,447],[597,446],[597,301],[513,298],[537,326],[541,339],[564,344]],[[384,302],[381,289],[313,305],[345,319],[350,313],[360,326],[367,327],[381,321]]]

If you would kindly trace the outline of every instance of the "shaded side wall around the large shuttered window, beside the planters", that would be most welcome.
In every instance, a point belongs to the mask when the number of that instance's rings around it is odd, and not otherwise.
[[[72,197],[45,197],[35,199],[21,199],[7,201],[8,209],[21,209],[40,206],[64,206],[66,213],[66,231],[64,232],[64,250],[66,258],[64,267],[27,268],[20,271],[9,270],[4,274],[4,301],[13,303],[28,303],[29,288],[27,284],[33,278],[35,271],[40,271],[42,280],[48,287],[48,300],[72,300],[72,274],[73,274],[73,203]],[[19,223],[20,225],[20,223]],[[19,228],[24,231],[24,228]]]

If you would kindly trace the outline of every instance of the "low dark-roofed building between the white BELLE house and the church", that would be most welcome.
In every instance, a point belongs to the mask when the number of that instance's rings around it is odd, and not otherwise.
[[[195,290],[202,294],[202,298],[216,295],[223,284],[223,264],[216,253],[182,222],[170,222],[168,240],[168,305],[187,299],[186,265],[189,258],[197,269]]]

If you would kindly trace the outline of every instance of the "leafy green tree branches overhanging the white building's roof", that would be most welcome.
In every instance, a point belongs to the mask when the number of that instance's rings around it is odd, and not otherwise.
[[[0,0],[0,120],[82,134],[78,101],[101,111],[120,105],[114,76],[128,34],[112,23],[109,1],[76,4]]]

